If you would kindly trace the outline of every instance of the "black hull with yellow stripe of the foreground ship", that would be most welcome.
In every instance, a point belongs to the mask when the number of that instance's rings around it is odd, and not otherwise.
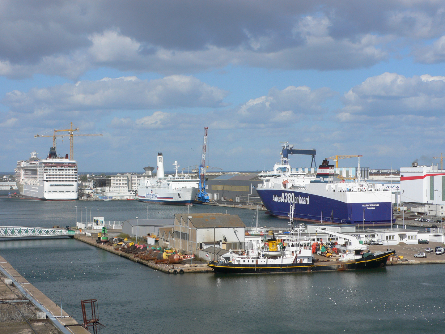
[[[368,256],[366,259],[341,262],[328,261],[318,263],[290,263],[277,265],[241,265],[232,263],[210,262],[207,265],[214,273],[237,273],[237,274],[259,274],[259,273],[298,273],[316,271],[342,271],[382,268],[386,266],[388,257],[395,251],[380,253],[376,256]]]

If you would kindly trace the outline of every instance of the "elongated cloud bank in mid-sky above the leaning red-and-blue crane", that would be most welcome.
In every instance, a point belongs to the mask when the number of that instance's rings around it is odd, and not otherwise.
[[[113,118],[115,129],[132,130],[190,130],[197,119],[214,130],[242,130],[287,128],[318,117],[326,110],[321,106],[336,93],[329,88],[311,90],[307,86],[289,86],[283,90],[272,88],[269,93],[253,98],[231,109],[219,109],[196,116],[190,113],[155,111],[142,118]]]

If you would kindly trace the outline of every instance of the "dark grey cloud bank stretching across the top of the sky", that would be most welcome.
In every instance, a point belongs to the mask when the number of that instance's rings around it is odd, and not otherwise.
[[[434,1],[292,1],[273,10],[267,1],[4,1],[0,75],[76,79],[101,66],[166,75],[228,64],[356,69],[441,37],[444,16]],[[441,44],[418,61],[443,61]]]

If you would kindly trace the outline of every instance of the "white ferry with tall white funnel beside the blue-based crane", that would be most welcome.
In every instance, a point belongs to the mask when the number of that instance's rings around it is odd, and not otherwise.
[[[198,179],[188,175],[178,175],[178,162],[173,164],[175,175],[164,175],[164,157],[158,153],[156,159],[156,177],[151,176],[153,167],[145,167],[149,174],[138,186],[138,200],[159,204],[191,205],[198,193]]]

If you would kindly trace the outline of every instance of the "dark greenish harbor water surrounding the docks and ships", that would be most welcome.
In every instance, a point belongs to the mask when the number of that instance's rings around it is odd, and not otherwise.
[[[1,225],[72,225],[75,205],[105,220],[144,217],[135,201],[0,199]],[[152,204],[150,218],[184,207]],[[73,209],[74,207],[74,209]],[[190,212],[226,212],[195,206]],[[250,225],[253,211],[227,208]],[[89,211],[88,211],[89,214]],[[93,213],[92,213],[93,214]],[[107,216],[110,217],[107,219]],[[111,218],[113,217],[113,218]],[[146,217],[146,216],[145,216]],[[260,213],[261,225],[286,227]],[[166,275],[73,239],[1,241],[0,255],[81,322],[81,299],[99,303],[101,333],[441,333],[444,265],[264,275]]]

